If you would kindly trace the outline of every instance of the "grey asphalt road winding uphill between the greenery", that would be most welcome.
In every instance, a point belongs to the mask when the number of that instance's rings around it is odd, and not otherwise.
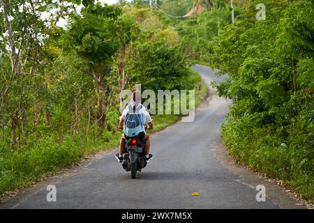
[[[193,67],[208,83],[214,70]],[[219,79],[221,79],[220,77]],[[269,197],[257,202],[255,187],[241,183],[214,155],[229,101],[213,96],[195,113],[151,137],[154,159],[130,178],[114,158],[98,155],[82,167],[28,188],[1,208],[279,208]],[[57,201],[47,202],[46,187],[57,187]],[[197,192],[200,196],[193,197]]]

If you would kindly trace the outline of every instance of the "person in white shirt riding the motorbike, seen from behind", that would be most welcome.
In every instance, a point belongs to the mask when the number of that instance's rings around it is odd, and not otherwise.
[[[128,112],[131,109],[137,109],[137,111],[139,111],[139,113],[142,116],[142,129],[140,131],[140,134],[138,134],[137,138],[140,139],[141,141],[145,141],[145,157],[147,162],[149,162],[153,155],[149,154],[149,147],[151,144],[151,141],[149,139],[149,134],[147,134],[145,132],[145,128],[144,125],[147,124],[148,128],[147,129],[152,129],[153,128],[153,123],[152,123],[152,118],[149,115],[149,112],[147,112],[147,110],[145,109],[145,107],[138,102],[140,98],[140,92],[139,91],[134,91],[132,93],[132,102],[130,102],[130,104],[124,109],[124,112],[122,112],[121,117],[120,117],[120,121],[119,121],[119,129],[122,130],[124,128],[124,122],[126,121],[126,115],[128,114]],[[137,100],[138,99],[138,100]],[[126,146],[126,140],[128,140],[129,137],[126,136],[126,134],[122,134],[121,139],[120,139],[120,153],[117,153],[116,157],[118,158],[118,160],[120,162],[122,162],[123,160],[123,152],[124,152],[124,147]]]

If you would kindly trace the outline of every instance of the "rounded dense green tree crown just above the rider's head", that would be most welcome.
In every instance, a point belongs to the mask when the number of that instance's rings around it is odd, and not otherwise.
[[[163,40],[137,45],[133,52],[134,66],[130,83],[142,84],[142,89],[181,89],[178,79],[188,73],[184,56],[177,45],[167,45]]]

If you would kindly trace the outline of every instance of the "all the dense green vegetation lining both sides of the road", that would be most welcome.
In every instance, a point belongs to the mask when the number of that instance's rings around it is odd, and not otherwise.
[[[233,102],[230,154],[313,201],[314,3],[233,2],[234,23],[227,0],[0,0],[0,194],[117,146],[123,89],[195,89],[199,104],[201,63],[229,75],[213,85]]]

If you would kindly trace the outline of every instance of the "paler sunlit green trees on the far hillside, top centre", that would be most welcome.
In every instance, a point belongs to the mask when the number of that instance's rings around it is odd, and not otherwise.
[[[195,3],[200,3],[202,12],[197,17],[183,18]],[[179,33],[182,52],[193,61],[209,62],[209,42],[220,33],[223,26],[230,24],[231,12],[225,1],[163,1],[162,11],[156,10],[163,26],[172,26]],[[235,15],[237,16],[238,10]],[[172,15],[172,16],[169,16]],[[173,17],[174,16],[174,17]]]

